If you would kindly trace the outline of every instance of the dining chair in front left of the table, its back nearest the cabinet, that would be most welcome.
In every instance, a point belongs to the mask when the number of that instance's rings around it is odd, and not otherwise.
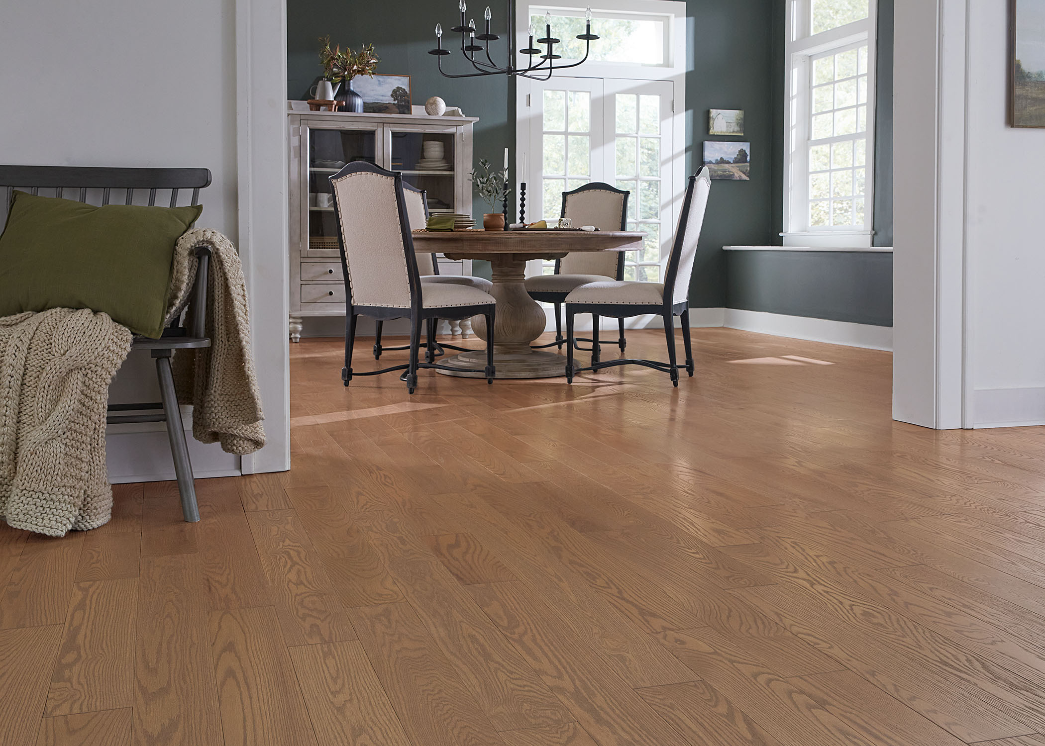
[[[400,376],[407,390],[417,389],[417,371],[422,368],[460,371],[437,365],[427,357],[419,362],[421,327],[429,320],[461,320],[486,317],[486,367],[470,369],[483,373],[488,383],[496,373],[493,367],[492,329],[496,300],[477,287],[421,281],[414,238],[407,212],[402,174],[388,171],[366,161],[349,163],[330,177],[333,187],[334,216],[345,273],[347,307],[345,367],[341,377],[348,386],[353,376],[379,375],[403,371]],[[378,371],[354,373],[352,348],[355,345],[356,320],[366,316],[378,321],[410,319],[410,363]],[[427,325],[428,353],[435,349],[435,325]]]

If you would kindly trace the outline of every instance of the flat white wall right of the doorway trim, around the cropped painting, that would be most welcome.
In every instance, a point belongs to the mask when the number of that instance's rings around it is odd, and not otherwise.
[[[969,3],[971,424],[1045,422],[1045,130],[1007,123],[1008,3]]]

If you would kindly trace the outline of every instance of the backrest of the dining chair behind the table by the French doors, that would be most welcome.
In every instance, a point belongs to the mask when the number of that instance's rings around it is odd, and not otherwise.
[[[562,216],[573,220],[574,228],[595,226],[601,231],[623,231],[628,222],[630,192],[609,184],[591,182],[573,191],[562,192]],[[622,252],[574,252],[559,261],[558,273],[564,275],[604,275],[621,279],[624,273]]]

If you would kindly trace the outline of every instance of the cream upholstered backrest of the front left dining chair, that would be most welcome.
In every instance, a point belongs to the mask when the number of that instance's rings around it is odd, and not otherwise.
[[[420,279],[402,174],[355,161],[330,184],[349,304],[412,307]]]

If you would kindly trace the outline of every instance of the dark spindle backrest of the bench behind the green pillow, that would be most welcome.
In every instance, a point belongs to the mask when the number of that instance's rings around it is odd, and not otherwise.
[[[0,189],[4,200],[0,208],[0,225],[6,224],[7,212],[20,189],[40,196],[56,196],[92,205],[147,205],[178,207],[179,195],[190,192],[189,205],[200,204],[200,190],[210,186],[208,168],[109,168],[90,166],[0,166]],[[115,192],[115,194],[114,194]],[[169,196],[168,196],[169,192]],[[123,197],[114,203],[113,197]],[[164,197],[167,197],[164,200]],[[162,205],[166,202],[166,205]],[[182,202],[185,202],[184,200]],[[192,308],[192,329],[185,333],[205,335],[207,317],[206,256],[201,256],[189,305]],[[171,324],[177,327],[178,320]]]

